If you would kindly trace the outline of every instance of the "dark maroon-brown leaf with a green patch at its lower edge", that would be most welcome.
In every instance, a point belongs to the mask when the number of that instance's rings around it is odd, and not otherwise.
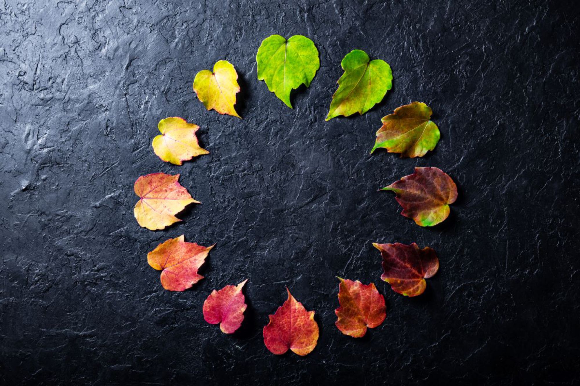
[[[415,167],[415,173],[403,177],[382,190],[397,194],[403,216],[422,227],[432,227],[449,216],[449,205],[457,199],[457,187],[451,177],[437,167]]]

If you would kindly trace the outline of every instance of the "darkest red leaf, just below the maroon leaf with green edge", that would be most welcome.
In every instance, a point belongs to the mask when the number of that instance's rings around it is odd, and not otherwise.
[[[394,292],[405,296],[417,296],[425,292],[429,279],[439,269],[439,259],[430,247],[419,249],[412,243],[372,245],[380,250],[383,256],[383,273],[381,279],[391,285]]]

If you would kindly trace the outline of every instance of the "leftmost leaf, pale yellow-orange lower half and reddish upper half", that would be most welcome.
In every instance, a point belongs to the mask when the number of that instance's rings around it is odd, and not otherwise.
[[[135,181],[135,194],[140,200],[135,204],[133,213],[139,225],[152,231],[163,229],[181,221],[175,214],[187,205],[200,203],[191,198],[186,188],[177,180],[179,174],[170,176],[165,173],[152,173]]]

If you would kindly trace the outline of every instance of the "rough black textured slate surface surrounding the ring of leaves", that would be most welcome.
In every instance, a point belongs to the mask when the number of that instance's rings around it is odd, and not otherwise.
[[[0,3],[0,383],[578,384],[578,32],[574,2],[3,1]],[[294,110],[256,79],[271,34],[320,51]],[[363,116],[324,118],[352,49],[393,68]],[[238,112],[205,111],[191,82],[229,60]],[[380,118],[414,100],[441,130],[433,154],[369,155]],[[157,122],[201,126],[211,154],[183,166],[151,148]],[[377,189],[415,166],[459,187],[421,228]],[[202,205],[137,225],[133,183],[181,173]],[[191,290],[162,289],[146,254],[169,237],[217,243]],[[441,261],[425,294],[380,281],[371,242],[418,242]],[[338,281],[373,281],[385,323],[333,323]],[[234,336],[204,322],[209,292],[249,278]],[[306,357],[262,340],[285,287],[316,311]]]

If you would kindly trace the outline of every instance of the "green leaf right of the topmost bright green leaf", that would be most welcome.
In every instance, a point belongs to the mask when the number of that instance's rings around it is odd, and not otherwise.
[[[338,90],[332,96],[326,120],[338,115],[364,114],[379,103],[393,83],[391,67],[386,61],[370,60],[362,50],[352,50],[342,60],[345,73],[338,79]]]

